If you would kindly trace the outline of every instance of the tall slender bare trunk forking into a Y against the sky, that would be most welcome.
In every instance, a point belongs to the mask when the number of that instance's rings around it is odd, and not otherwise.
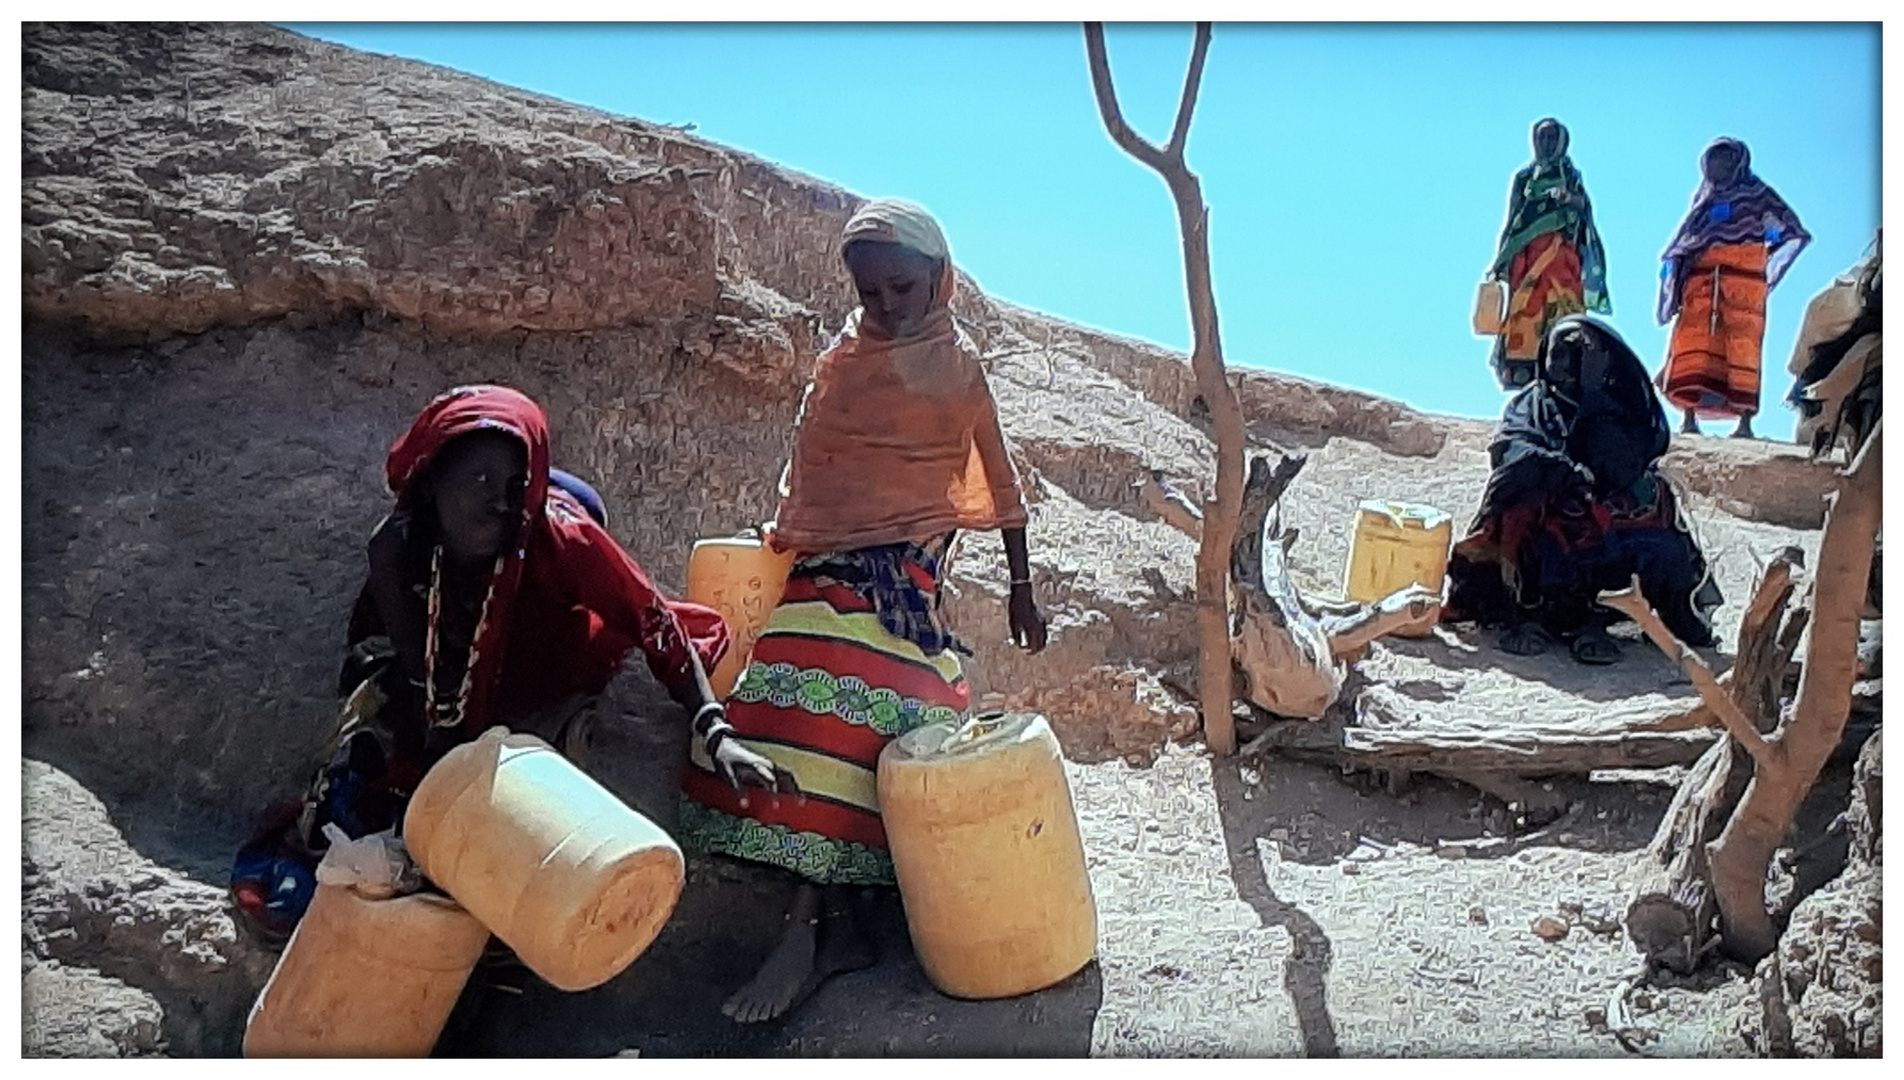
[[[1123,152],[1156,170],[1177,202],[1194,339],[1190,370],[1196,373],[1198,392],[1209,406],[1217,429],[1217,491],[1203,505],[1203,533],[1196,558],[1198,699],[1203,710],[1205,743],[1219,754],[1230,754],[1236,750],[1236,724],[1230,714],[1234,686],[1230,678],[1226,577],[1230,541],[1236,535],[1236,516],[1243,501],[1243,408],[1224,373],[1222,341],[1217,335],[1217,301],[1209,278],[1209,208],[1203,206],[1203,185],[1184,164],[1184,139],[1190,133],[1198,86],[1203,82],[1203,57],[1209,53],[1209,23],[1196,25],[1184,91],[1177,101],[1177,124],[1163,147],[1150,143],[1123,122],[1123,112],[1118,109],[1118,90],[1110,80],[1110,59],[1104,53],[1104,25],[1085,23],[1083,44],[1091,59],[1091,90],[1097,91],[1097,110],[1104,118],[1104,130]]]

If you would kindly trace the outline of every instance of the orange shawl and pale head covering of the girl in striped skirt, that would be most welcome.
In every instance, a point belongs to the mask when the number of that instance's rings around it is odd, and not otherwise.
[[[781,478],[779,550],[851,550],[1026,522],[979,352],[952,324],[952,259],[942,238],[912,242],[922,227],[939,232],[929,217],[904,215],[923,211],[868,204],[845,232],[876,236],[899,217],[908,248],[937,246],[923,251],[944,261],[931,312],[916,337],[895,341],[855,310],[821,354]]]

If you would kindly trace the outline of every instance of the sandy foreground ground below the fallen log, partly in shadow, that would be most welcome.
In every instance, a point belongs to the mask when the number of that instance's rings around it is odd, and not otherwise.
[[[609,747],[668,737],[604,735]],[[664,773],[657,756],[649,777]],[[676,916],[626,973],[564,994],[522,970],[478,970],[438,1053],[1628,1053],[1590,1011],[1639,971],[1616,914],[1666,785],[1554,781],[1569,813],[1516,840],[1498,802],[1438,779],[1392,796],[1331,768],[1213,760],[1198,747],[1169,747],[1150,768],[1072,764],[1068,775],[1099,958],[1059,987],[1003,1002],[935,992],[897,897],[870,891],[878,966],[828,983],[788,1019],[735,1025],[720,1002],[771,945],[792,880],[693,857]],[[634,771],[609,779],[666,815],[663,787]],[[1540,939],[1540,916],[1569,933]],[[1656,1032],[1641,1050],[1742,1055],[1727,1030],[1742,975],[1641,990],[1636,1023]]]

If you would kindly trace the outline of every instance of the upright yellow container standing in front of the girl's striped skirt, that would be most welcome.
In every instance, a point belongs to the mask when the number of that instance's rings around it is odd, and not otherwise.
[[[1043,716],[937,722],[893,739],[880,754],[880,813],[935,987],[1009,998],[1091,962],[1097,905]]]

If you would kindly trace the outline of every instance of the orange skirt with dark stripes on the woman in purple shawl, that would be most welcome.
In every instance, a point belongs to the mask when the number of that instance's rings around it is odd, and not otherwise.
[[[1714,244],[1687,267],[1660,392],[1700,417],[1759,411],[1765,244]]]

